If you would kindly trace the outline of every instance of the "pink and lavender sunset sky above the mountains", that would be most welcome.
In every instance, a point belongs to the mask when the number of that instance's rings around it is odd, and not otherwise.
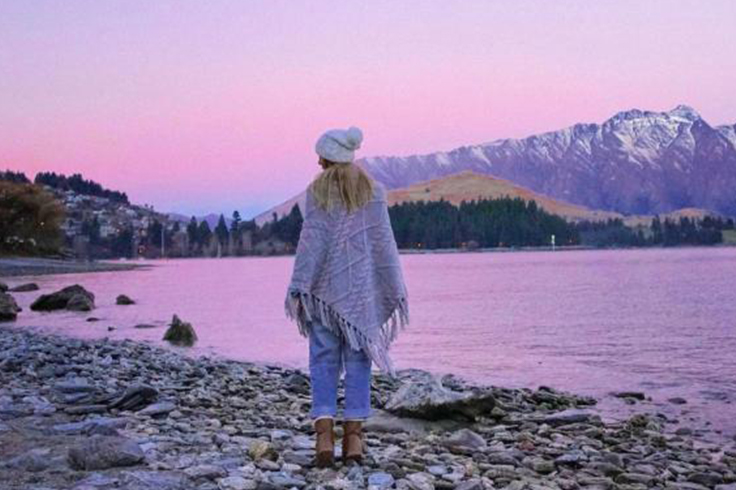
[[[523,137],[631,108],[736,122],[736,2],[0,3],[0,169],[245,217],[360,156]]]

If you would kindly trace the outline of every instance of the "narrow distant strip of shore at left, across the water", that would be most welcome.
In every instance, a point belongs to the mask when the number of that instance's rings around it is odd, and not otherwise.
[[[139,267],[150,265],[41,257],[0,257],[0,277],[120,271]]]

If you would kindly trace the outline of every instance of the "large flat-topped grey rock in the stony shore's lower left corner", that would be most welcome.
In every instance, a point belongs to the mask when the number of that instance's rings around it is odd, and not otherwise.
[[[132,439],[115,436],[92,436],[69,449],[69,464],[77,470],[105,470],[133,466],[143,461],[143,450]]]

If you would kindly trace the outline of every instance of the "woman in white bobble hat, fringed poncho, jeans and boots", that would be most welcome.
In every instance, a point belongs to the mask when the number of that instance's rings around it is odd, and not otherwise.
[[[316,144],[322,172],[306,209],[286,314],[309,338],[317,465],[334,462],[337,386],[345,374],[343,462],[363,456],[371,364],[394,374],[389,344],[409,322],[407,291],[388,215],[386,190],[353,163],[363,133],[333,129]]]

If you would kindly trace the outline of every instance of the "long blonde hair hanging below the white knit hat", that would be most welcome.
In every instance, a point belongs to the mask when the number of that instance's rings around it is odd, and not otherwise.
[[[341,202],[352,213],[373,197],[373,181],[362,168],[354,163],[321,160],[327,166],[310,184],[317,206],[330,210]]]

